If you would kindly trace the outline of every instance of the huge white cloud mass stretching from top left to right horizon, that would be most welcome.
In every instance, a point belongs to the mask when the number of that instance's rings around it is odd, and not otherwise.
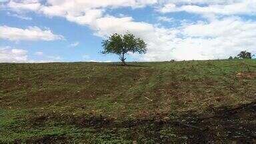
[[[31,1],[30,1],[31,2]],[[35,11],[49,17],[64,17],[79,25],[87,25],[95,35],[107,37],[111,33],[130,31],[142,37],[148,44],[148,53],[139,57],[141,61],[166,61],[170,59],[222,59],[236,55],[239,51],[256,52],[256,23],[232,15],[255,15],[256,1],[248,0],[165,0],[165,1],[67,1],[48,0],[46,5],[38,1],[12,3],[14,11]],[[39,3],[35,4],[35,3]],[[158,3],[158,5],[156,5]],[[133,17],[113,17],[106,9],[117,7],[143,7],[154,5],[162,13],[186,11],[206,16],[206,21],[185,23],[179,27],[166,28]],[[216,15],[225,15],[224,18]],[[171,21],[158,17],[159,21]],[[1,35],[0,35],[1,37]]]

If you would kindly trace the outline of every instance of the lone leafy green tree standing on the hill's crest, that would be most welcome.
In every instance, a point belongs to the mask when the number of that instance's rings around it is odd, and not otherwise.
[[[102,41],[102,47],[104,51],[101,51],[101,53],[115,53],[119,55],[119,59],[122,61],[123,65],[127,65],[125,63],[125,54],[128,52],[139,54],[147,52],[147,45],[143,39],[135,37],[135,35],[129,32],[125,33],[125,35],[118,33],[110,35],[107,40]]]

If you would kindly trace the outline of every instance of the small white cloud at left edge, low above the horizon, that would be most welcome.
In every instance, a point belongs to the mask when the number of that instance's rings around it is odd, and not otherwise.
[[[0,47],[0,63],[22,63],[27,61],[27,51]]]

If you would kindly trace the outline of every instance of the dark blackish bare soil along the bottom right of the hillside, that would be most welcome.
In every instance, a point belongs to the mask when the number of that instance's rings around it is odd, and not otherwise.
[[[209,109],[209,111],[212,112],[200,115],[186,114],[178,119],[171,119],[167,113],[155,113],[155,115],[121,122],[102,115],[72,118],[69,122],[79,127],[93,127],[98,131],[105,128],[133,129],[133,139],[137,139],[136,133],[141,133],[139,127],[145,126],[147,129],[151,129],[151,132],[143,131],[143,135],[155,139],[155,142],[159,143],[256,143],[256,101],[235,108],[218,107]],[[40,123],[46,119],[45,116],[41,116],[34,120],[36,123]],[[170,127],[173,137],[170,137],[168,133],[164,137],[160,135],[161,130]],[[47,136],[29,139],[28,142],[48,143],[65,140],[67,137],[64,136]]]

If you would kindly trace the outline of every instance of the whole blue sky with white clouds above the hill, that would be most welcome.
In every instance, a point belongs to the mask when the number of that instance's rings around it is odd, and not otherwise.
[[[101,41],[129,31],[147,53],[127,61],[256,53],[255,0],[0,0],[0,63],[119,61]]]

